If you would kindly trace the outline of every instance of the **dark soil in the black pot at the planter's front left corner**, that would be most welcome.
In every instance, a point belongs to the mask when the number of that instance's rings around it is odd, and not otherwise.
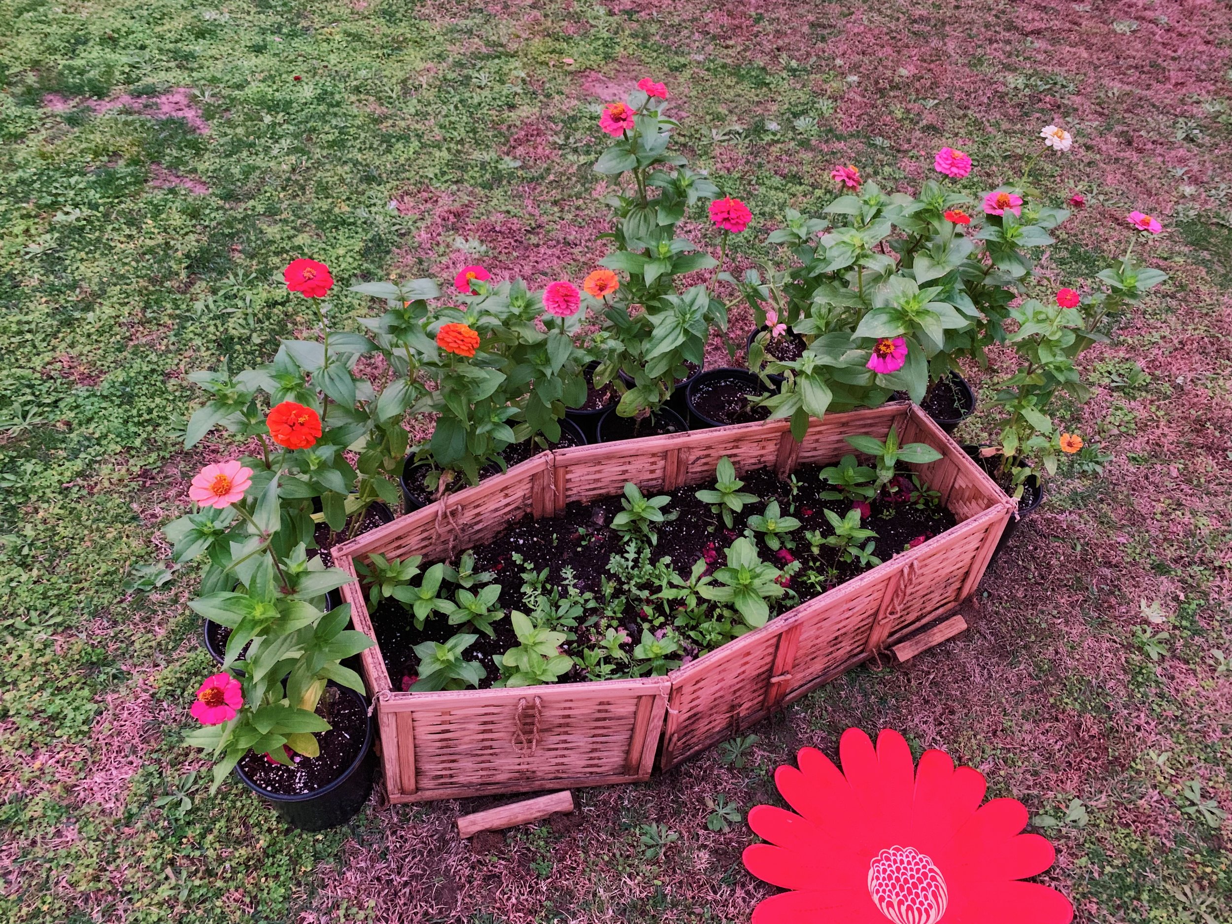
[[[333,702],[329,702],[333,700]],[[264,790],[280,796],[298,796],[315,792],[341,776],[363,749],[367,732],[367,713],[362,700],[325,689],[317,706],[317,715],[330,724],[328,732],[317,732],[320,755],[291,756],[292,766],[275,764],[264,754],[249,752],[239,760],[239,766],[249,780]]]

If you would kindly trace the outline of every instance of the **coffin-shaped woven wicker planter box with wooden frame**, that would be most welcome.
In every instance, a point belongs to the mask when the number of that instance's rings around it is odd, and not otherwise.
[[[914,468],[957,525],[667,676],[410,694],[393,689],[378,648],[363,652],[391,800],[646,780],[655,754],[673,766],[955,610],[1016,505],[928,415],[898,403],[814,420],[802,444],[775,421],[543,452],[336,546],[335,562],[352,575],[355,559],[372,552],[440,561],[524,516],[620,494],[626,482],[646,493],[700,484],[723,456],[737,472],[771,467],[786,477],[797,464],[837,462],[851,451],[844,436],[883,439],[891,426],[903,442],[942,453]],[[372,634],[359,583],[342,595],[356,628]]]

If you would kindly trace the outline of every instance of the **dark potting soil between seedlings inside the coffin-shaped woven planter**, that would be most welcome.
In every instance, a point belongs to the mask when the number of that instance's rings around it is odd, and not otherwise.
[[[733,520],[734,529],[728,530],[722,517],[712,514],[710,505],[697,500],[695,492],[711,484],[699,484],[671,492],[671,503],[664,511],[679,513],[679,516],[670,521],[659,524],[657,532],[658,545],[652,552],[652,562],[663,557],[669,557],[671,569],[681,577],[687,578],[692,565],[699,559],[706,559],[707,573],[726,565],[723,551],[739,537],[748,522],[749,515],[761,514],[765,503],[777,500],[784,516],[795,516],[801,521],[801,526],[791,533],[795,542],[792,549],[780,549],[775,553],[766,548],[758,535],[758,552],[761,561],[772,562],[782,568],[792,559],[801,563],[800,570],[788,579],[790,590],[798,594],[800,600],[807,600],[841,584],[850,578],[862,573],[865,568],[857,562],[843,562],[839,552],[829,546],[822,546],[813,553],[804,532],[818,530],[821,535],[830,536],[834,530],[825,519],[825,510],[833,510],[840,516],[850,509],[850,504],[841,500],[822,499],[821,492],[827,488],[821,482],[819,466],[802,466],[796,472],[796,483],[800,485],[792,498],[792,489],[788,482],[779,480],[771,469],[750,472],[743,476],[744,488],[742,490],[755,494],[761,500],[747,504],[740,514]],[[909,484],[909,483],[908,483]],[[894,503],[894,498],[899,499]],[[914,500],[912,500],[914,498]],[[413,615],[399,602],[386,600],[376,607],[372,616],[372,628],[384,657],[386,668],[393,681],[395,690],[409,689],[416,679],[419,659],[414,647],[425,641],[445,642],[458,632],[476,634],[477,639],[466,649],[463,657],[467,660],[478,660],[487,670],[487,678],[480,681],[480,687],[492,686],[500,678],[500,660],[510,648],[517,646],[508,612],[520,610],[529,612],[529,606],[522,595],[522,573],[533,568],[549,572],[545,588],[559,589],[562,598],[569,586],[579,594],[590,593],[599,600],[595,609],[586,610],[578,620],[577,628],[570,633],[562,650],[565,654],[580,652],[583,648],[594,646],[607,627],[622,628],[628,633],[628,641],[621,646],[630,653],[633,646],[641,639],[643,626],[652,631],[667,625],[670,620],[662,614],[650,616],[644,610],[639,610],[634,604],[626,605],[620,616],[618,626],[605,623],[602,618],[602,582],[612,575],[607,569],[612,556],[622,554],[626,549],[627,537],[612,530],[612,517],[622,510],[618,496],[604,498],[589,504],[569,504],[564,514],[551,520],[525,519],[515,524],[503,536],[474,549],[474,570],[489,570],[495,574],[495,583],[501,585],[498,606],[505,610],[505,616],[496,620],[492,628],[495,637],[490,638],[469,625],[451,626],[442,614],[434,614],[428,617],[423,630],[416,630]],[[897,494],[886,494],[885,499],[873,501],[870,516],[864,519],[862,525],[877,532],[873,542],[873,553],[890,559],[894,553],[904,551],[913,540],[919,537],[930,538],[955,525],[954,516],[940,506],[934,506],[920,498],[914,490],[901,490]],[[713,527],[713,531],[711,531]],[[514,559],[514,554],[521,557],[524,563]],[[426,564],[423,567],[428,567]],[[570,574],[565,575],[565,569]],[[567,580],[572,578],[572,584]],[[442,594],[453,594],[453,588],[445,585]],[[474,593],[474,588],[471,589]],[[616,594],[623,591],[617,589]],[[632,600],[632,598],[631,598]],[[788,598],[780,598],[777,612],[786,612],[796,601]],[[683,611],[676,607],[673,615]],[[593,625],[586,625],[591,621]],[[563,627],[562,627],[563,628]],[[705,650],[685,639],[684,648],[674,657],[699,657]],[[583,681],[588,676],[585,671],[574,665],[573,669],[561,678],[562,683]]]

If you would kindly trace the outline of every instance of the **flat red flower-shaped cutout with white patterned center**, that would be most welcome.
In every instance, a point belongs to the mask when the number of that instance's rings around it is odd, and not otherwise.
[[[768,844],[744,850],[758,878],[791,890],[763,901],[753,924],[1069,924],[1056,890],[1021,882],[1052,865],[1052,844],[1023,834],[1026,808],[984,798],[984,777],[929,750],[914,766],[898,732],[877,748],[857,728],[839,742],[840,771],[813,748],[780,766],[798,814],[749,812]]]

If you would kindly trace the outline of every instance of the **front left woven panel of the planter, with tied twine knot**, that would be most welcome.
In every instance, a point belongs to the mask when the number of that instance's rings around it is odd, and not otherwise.
[[[505,690],[392,694],[387,781],[395,802],[646,780],[667,678]]]

